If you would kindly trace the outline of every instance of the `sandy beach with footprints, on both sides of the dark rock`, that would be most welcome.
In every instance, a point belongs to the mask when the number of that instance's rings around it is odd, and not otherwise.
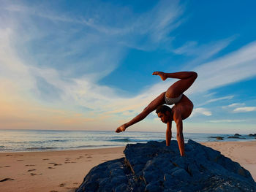
[[[238,162],[256,180],[256,141],[204,142]],[[124,157],[124,147],[0,153],[1,191],[75,191],[91,168]]]

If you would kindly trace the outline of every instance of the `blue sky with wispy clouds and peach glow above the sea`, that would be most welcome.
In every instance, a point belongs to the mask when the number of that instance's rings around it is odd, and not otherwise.
[[[175,82],[152,72],[195,71],[184,131],[255,133],[255,5],[1,1],[0,128],[114,131]]]

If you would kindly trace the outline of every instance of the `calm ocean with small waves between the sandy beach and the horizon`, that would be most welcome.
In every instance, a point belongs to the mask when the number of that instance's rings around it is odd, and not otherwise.
[[[245,139],[227,139],[233,134],[184,133],[185,142],[222,142],[212,137],[224,137],[223,141],[249,141],[255,137],[242,135]],[[173,133],[173,139],[176,134]],[[125,131],[57,131],[57,130],[0,130],[0,152],[24,152],[45,150],[77,150],[102,147],[119,147],[132,143],[165,140],[164,132]]]

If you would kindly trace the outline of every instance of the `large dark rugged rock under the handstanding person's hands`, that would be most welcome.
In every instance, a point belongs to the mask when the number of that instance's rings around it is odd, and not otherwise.
[[[128,144],[125,158],[95,166],[81,191],[256,191],[251,174],[219,151],[189,140],[186,157],[171,141]]]

